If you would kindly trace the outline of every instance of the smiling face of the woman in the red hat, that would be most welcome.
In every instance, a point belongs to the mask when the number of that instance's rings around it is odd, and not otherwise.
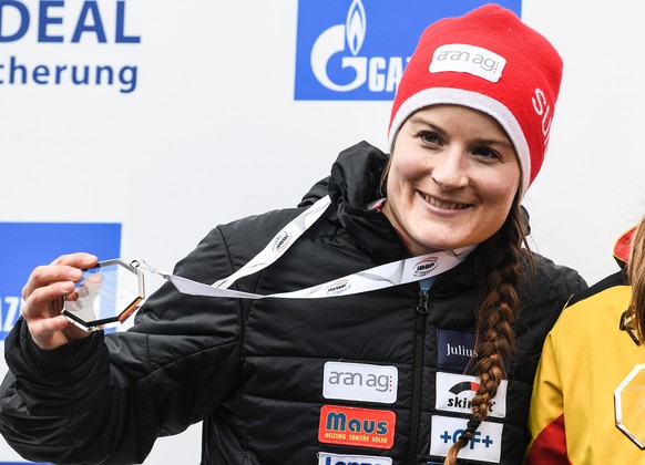
[[[520,186],[504,130],[464,106],[412,114],[391,156],[383,213],[412,255],[484,241],[503,225]]]

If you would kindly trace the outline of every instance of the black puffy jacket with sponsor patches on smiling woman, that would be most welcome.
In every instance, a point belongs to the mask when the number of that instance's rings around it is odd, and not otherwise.
[[[296,290],[408,258],[386,216],[365,208],[386,161],[366,143],[341,153],[324,183],[332,207],[284,257],[234,288]],[[226,277],[300,211],[219,226],[174,273],[206,283]],[[142,462],[157,436],[199,421],[203,464],[440,462],[431,447],[452,444],[475,389],[463,373],[473,348],[477,254],[423,292],[411,283],[314,302],[252,301],[190,297],[166,283],[130,331],[51,352],[33,345],[21,320],[6,341],[1,432],[25,457],[55,463]],[[531,291],[521,291],[508,390],[492,406],[498,416],[460,454],[470,463],[521,461],[543,339],[585,287],[569,268],[540,256],[535,262]]]

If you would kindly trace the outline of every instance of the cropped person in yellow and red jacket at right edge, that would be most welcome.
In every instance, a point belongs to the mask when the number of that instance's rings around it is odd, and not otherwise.
[[[544,344],[530,464],[645,459],[645,217],[614,250],[621,271],[576,294]]]

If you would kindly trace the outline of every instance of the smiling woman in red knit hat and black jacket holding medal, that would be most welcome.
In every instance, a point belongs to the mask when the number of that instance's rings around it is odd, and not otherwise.
[[[131,331],[86,337],[50,303],[95,257],[38,268],[7,340],[3,435],[57,463],[140,462],[199,421],[204,464],[520,462],[544,337],[585,286],[522,248],[561,69],[496,6],[429,27],[393,103],[391,157],[348,148],[300,208],[219,226],[175,268],[273,298],[168,283]],[[275,261],[225,279],[262,250]],[[301,289],[328,298],[284,298]]]

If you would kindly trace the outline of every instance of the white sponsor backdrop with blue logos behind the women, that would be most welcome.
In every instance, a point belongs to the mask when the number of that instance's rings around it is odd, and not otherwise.
[[[419,34],[485,2],[0,0],[0,338],[35,265],[85,250],[170,270],[217,224],[295,206],[347,146],[387,152]],[[645,7],[501,4],[565,63],[531,245],[594,282],[645,213]],[[198,463],[198,428],[146,463]]]

